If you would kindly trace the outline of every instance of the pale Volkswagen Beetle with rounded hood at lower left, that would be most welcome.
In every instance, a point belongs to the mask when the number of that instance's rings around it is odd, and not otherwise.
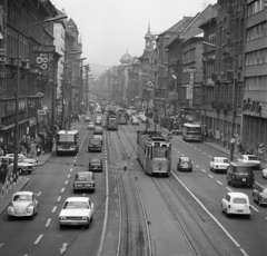
[[[11,217],[36,217],[39,208],[36,194],[32,191],[19,191],[12,196],[8,207],[8,216]]]

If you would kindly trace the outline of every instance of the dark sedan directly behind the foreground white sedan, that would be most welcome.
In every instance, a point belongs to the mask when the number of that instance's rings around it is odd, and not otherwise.
[[[73,191],[77,190],[91,190],[95,191],[96,179],[93,173],[80,171],[76,174],[73,181]]]

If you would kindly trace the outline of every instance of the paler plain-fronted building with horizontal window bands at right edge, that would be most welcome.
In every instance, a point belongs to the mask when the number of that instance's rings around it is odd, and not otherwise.
[[[255,154],[266,159],[264,145],[267,145],[267,6],[265,0],[248,0],[244,3],[247,7],[247,17],[241,142],[245,148],[255,149]]]

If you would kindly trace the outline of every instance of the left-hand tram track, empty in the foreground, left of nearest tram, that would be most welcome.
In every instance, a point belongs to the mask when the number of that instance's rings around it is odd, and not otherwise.
[[[126,152],[123,144],[120,140],[118,131],[113,132],[116,136],[111,136],[112,131],[107,131],[107,135],[109,137],[110,145],[116,145],[119,141],[119,149],[111,150],[112,161],[120,161],[121,157],[118,154],[118,151],[120,151],[122,154],[122,160],[127,163],[129,157]],[[117,138],[119,138],[119,140]],[[144,206],[135,177],[131,171],[128,175],[125,175],[127,173],[125,173],[125,169],[121,166],[117,166],[116,169],[120,206],[120,232],[117,256],[152,256],[146,215],[144,211],[141,214],[139,210],[140,205],[142,209]],[[137,219],[139,219],[139,221],[136,221]],[[141,219],[145,220],[140,221]]]

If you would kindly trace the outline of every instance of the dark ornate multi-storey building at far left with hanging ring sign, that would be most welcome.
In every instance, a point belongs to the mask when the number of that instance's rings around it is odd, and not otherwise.
[[[0,6],[2,21],[0,35],[0,137],[4,144],[12,145],[16,120],[14,93],[18,93],[19,98],[19,140],[26,135],[34,137],[38,130],[50,125],[53,69],[49,65],[50,56],[33,53],[33,46],[53,45],[53,24],[34,23],[44,18],[56,17],[58,12],[50,1],[1,0]],[[17,56],[18,46],[20,46],[19,57]],[[19,90],[16,91],[17,82],[19,82]],[[42,115],[39,115],[39,110],[43,110]]]

